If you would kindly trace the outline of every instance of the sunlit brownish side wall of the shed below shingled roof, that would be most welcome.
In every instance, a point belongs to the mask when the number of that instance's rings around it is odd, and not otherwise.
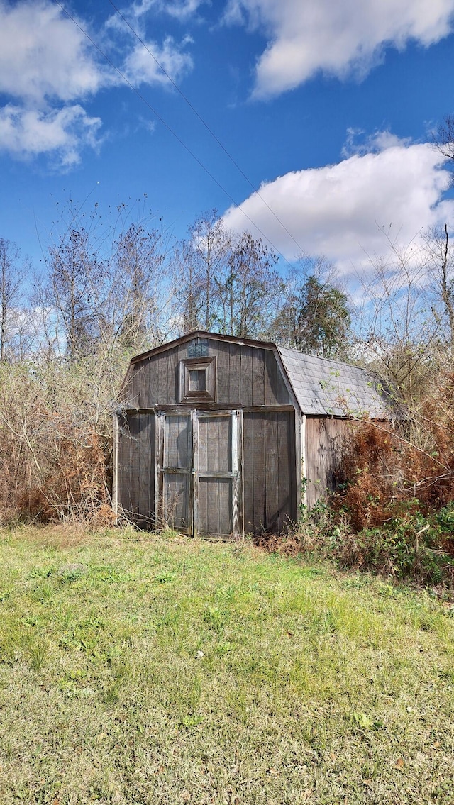
[[[307,506],[334,489],[333,473],[341,442],[351,423],[345,419],[307,418],[306,456],[303,475],[307,480]]]

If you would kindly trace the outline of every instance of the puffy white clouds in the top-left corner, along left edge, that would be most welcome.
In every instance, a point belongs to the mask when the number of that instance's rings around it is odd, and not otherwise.
[[[97,147],[99,118],[79,101],[112,84],[93,47],[55,3],[0,0],[0,149],[19,159],[52,155],[68,169]]]

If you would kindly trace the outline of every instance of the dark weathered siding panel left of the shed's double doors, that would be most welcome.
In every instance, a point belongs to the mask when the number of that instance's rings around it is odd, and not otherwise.
[[[118,418],[118,509],[142,528],[155,525],[155,415]]]

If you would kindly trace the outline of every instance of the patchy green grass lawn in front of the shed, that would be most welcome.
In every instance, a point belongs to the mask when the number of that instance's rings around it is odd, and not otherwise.
[[[454,617],[246,545],[0,531],[0,802],[454,803]]]

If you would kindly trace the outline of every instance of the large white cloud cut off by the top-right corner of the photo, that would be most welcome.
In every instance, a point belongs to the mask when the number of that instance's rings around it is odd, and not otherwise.
[[[318,71],[364,76],[386,46],[423,46],[452,31],[454,0],[229,0],[227,23],[265,31],[256,97],[293,89]]]

